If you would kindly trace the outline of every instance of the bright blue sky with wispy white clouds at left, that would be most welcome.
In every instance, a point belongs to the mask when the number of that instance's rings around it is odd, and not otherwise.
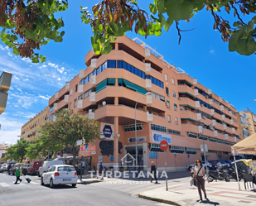
[[[79,69],[86,69],[85,54],[91,49],[92,32],[89,25],[80,21],[80,6],[91,10],[97,2],[69,1],[69,8],[57,15],[63,17],[65,22],[64,41],[51,41],[41,47],[40,53],[47,57],[44,64],[32,64],[30,60],[13,55],[0,41],[0,73],[3,70],[12,73],[7,108],[0,116],[0,143],[15,143],[22,125],[45,108],[48,99],[66,81],[73,79]],[[147,5],[153,1],[138,2],[140,7],[148,11]],[[228,17],[225,12],[221,14]],[[231,16],[233,18],[233,14]],[[162,54],[169,63],[184,69],[191,77],[197,78],[200,84],[232,103],[238,111],[249,107],[256,113],[256,56],[229,52],[228,44],[221,40],[219,31],[213,30],[213,22],[210,12],[205,9],[198,12],[191,22],[181,22],[183,30],[196,28],[181,33],[181,45],[178,45],[174,24],[168,32],[163,31],[162,36],[148,36],[146,40],[143,36],[138,37]],[[137,37],[133,32],[128,32],[127,36]]]

